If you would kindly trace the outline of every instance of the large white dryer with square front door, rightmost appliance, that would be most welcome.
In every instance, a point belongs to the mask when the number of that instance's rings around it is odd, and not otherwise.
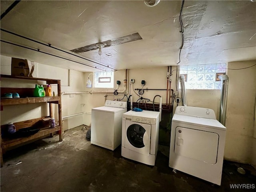
[[[220,185],[226,127],[212,109],[178,106],[172,118],[169,166]]]

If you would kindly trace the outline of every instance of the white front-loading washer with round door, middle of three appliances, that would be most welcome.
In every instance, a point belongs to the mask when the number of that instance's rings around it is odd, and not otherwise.
[[[123,157],[148,165],[155,165],[158,151],[160,112],[128,111],[123,114]]]

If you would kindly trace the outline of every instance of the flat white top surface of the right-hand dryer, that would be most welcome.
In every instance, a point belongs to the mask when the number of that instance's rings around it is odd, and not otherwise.
[[[172,122],[190,124],[195,126],[203,126],[203,127],[226,131],[226,127],[223,126],[216,119],[207,119],[207,118],[201,118],[201,117],[192,117],[192,116],[174,114],[172,118]]]

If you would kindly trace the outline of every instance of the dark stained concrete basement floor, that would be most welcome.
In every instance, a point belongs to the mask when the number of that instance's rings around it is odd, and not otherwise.
[[[113,152],[90,144],[82,127],[66,131],[62,142],[56,135],[8,151],[1,168],[1,192],[226,192],[236,191],[230,184],[256,187],[256,171],[250,165],[224,161],[222,185],[216,186],[172,172],[164,155],[168,147],[160,146],[156,165],[147,166],[123,158],[120,146]],[[240,166],[245,175],[237,172]]]

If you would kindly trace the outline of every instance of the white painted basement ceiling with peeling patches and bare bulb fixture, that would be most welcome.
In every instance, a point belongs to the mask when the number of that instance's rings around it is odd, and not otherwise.
[[[13,2],[0,1],[1,15]],[[82,58],[4,31],[1,40],[82,64],[5,42],[1,42],[1,54],[82,72],[175,66],[182,46],[181,3],[160,0],[148,7],[142,0],[22,0],[1,19],[1,29]],[[180,65],[256,59],[256,2],[185,0],[182,22]],[[102,48],[101,56],[98,50],[79,54],[70,51],[134,33],[142,40]]]

